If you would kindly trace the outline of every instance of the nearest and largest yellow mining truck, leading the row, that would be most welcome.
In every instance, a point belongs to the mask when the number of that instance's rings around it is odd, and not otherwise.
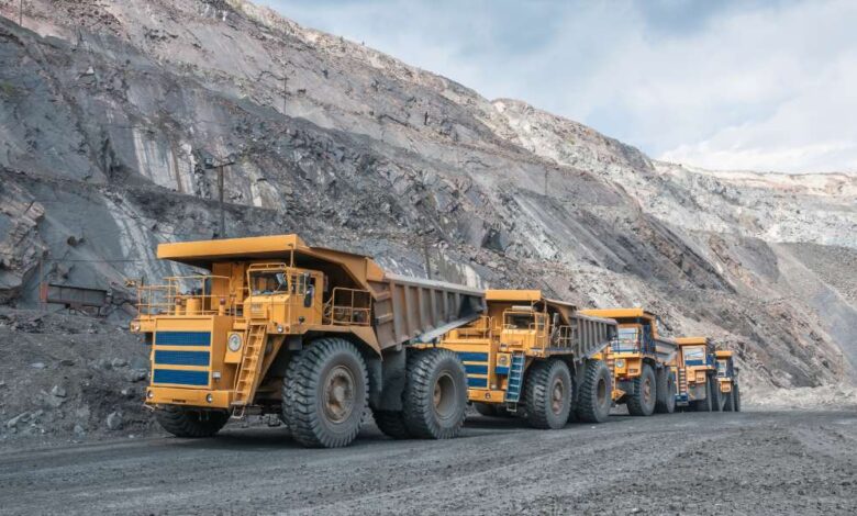
[[[340,447],[367,406],[413,437],[460,429],[464,364],[411,345],[478,318],[482,291],[391,274],[297,235],[162,244],[157,256],[204,270],[138,289],[145,403],[167,431],[205,437],[231,416],[278,414],[302,445]]]

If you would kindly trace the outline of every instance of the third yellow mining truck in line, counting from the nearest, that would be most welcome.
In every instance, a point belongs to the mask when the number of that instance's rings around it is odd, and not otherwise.
[[[678,345],[658,335],[657,317],[643,309],[581,311],[619,323],[616,337],[603,358],[613,375],[613,401],[632,416],[671,414],[676,410],[676,377],[670,363]]]

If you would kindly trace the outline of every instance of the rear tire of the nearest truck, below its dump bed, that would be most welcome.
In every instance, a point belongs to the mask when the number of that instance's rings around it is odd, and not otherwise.
[[[467,406],[467,373],[448,349],[408,351],[402,397],[404,424],[420,439],[450,439],[461,431]]]

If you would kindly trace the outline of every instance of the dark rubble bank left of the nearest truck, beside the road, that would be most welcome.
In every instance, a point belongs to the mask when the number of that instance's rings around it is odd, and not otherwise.
[[[147,349],[118,321],[0,309],[0,440],[154,430]]]

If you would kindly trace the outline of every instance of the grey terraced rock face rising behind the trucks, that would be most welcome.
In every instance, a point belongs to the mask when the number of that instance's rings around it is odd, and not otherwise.
[[[238,0],[0,0],[0,301],[133,294],[158,243],[297,232],[389,269],[635,305],[748,386],[853,378],[857,179],[708,172]],[[848,269],[850,267],[850,269]]]

